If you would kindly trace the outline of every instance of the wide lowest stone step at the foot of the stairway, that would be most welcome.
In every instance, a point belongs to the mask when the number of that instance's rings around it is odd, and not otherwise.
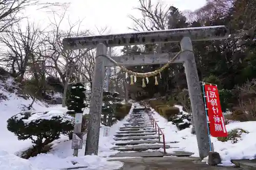
[[[115,155],[110,155],[110,157],[163,157],[163,156],[177,156],[177,157],[184,157],[184,156],[191,156],[194,153],[190,152],[183,152],[183,151],[174,151],[172,154],[164,154],[160,151],[153,151],[153,152],[120,152]]]

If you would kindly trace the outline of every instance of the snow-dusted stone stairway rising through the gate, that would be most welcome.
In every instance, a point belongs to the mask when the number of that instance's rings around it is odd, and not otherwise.
[[[153,127],[145,108],[134,108],[126,122],[115,134],[116,147],[112,150],[120,151],[111,157],[161,157],[174,154],[163,154],[158,151],[164,147],[158,133]],[[165,148],[170,148],[165,145]],[[172,147],[173,148],[173,147]],[[179,156],[179,155],[177,155]],[[189,156],[189,155],[188,155]]]

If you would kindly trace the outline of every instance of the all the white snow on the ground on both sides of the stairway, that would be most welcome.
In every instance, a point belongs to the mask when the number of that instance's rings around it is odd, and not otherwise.
[[[113,169],[122,166],[119,161],[108,162],[109,155],[115,154],[118,151],[111,151],[114,147],[114,134],[118,131],[118,128],[129,117],[127,115],[122,121],[117,122],[110,129],[109,136],[103,136],[104,126],[100,128],[100,140],[99,140],[99,153],[98,156],[84,156],[83,146],[82,150],[79,150],[78,157],[73,157],[73,150],[71,149],[71,141],[66,136],[61,136],[60,139],[53,142],[52,150],[48,154],[39,154],[36,157],[32,157],[28,160],[15,156],[15,153],[25,150],[31,147],[31,141],[19,141],[17,137],[7,130],[7,119],[12,115],[19,113],[24,106],[29,106],[32,102],[31,99],[25,100],[18,97],[15,93],[10,93],[4,86],[12,86],[12,79],[2,82],[0,80],[0,93],[8,96],[7,100],[0,101],[0,132],[2,139],[0,140],[0,168],[1,169],[19,169],[19,170],[42,170],[42,169],[60,169],[75,166],[89,166],[87,169]],[[133,103],[132,108],[141,108],[138,103]],[[176,106],[182,111],[181,106]],[[42,111],[54,111],[66,113],[67,108],[62,108],[61,105],[55,105],[47,107],[45,103],[35,101],[33,104],[34,112]],[[132,109],[131,109],[132,110]],[[182,111],[185,113],[184,111]],[[84,109],[84,114],[89,113],[89,108]],[[170,147],[178,147],[173,149],[166,149],[167,153],[173,153],[173,151],[186,151],[195,153],[193,156],[199,156],[196,135],[190,133],[190,128],[179,131],[175,125],[161,117],[157,112],[153,115],[158,120],[158,125],[165,134],[165,141]],[[226,126],[227,130],[241,128],[248,131],[248,134],[243,134],[242,140],[235,144],[230,141],[221,142],[217,138],[211,137],[211,142],[214,143],[215,151],[219,152],[222,157],[222,163],[224,165],[230,165],[231,159],[253,159],[255,158],[256,141],[253,140],[256,135],[256,122],[242,122],[231,123]],[[86,135],[84,136],[86,140]],[[179,141],[179,143],[170,143],[172,141]],[[127,141],[126,141],[127,142]],[[162,150],[162,149],[160,149]],[[72,162],[78,162],[73,165]],[[47,162],[47,163],[46,163]]]

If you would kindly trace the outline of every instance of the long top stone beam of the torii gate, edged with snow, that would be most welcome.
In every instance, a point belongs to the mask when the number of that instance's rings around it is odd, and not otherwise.
[[[81,48],[96,47],[96,45],[100,42],[103,42],[108,47],[114,47],[180,42],[183,37],[190,37],[191,41],[207,41],[226,39],[228,36],[229,29],[225,26],[194,27],[124,34],[69,37],[63,39],[63,47],[65,50],[77,50]]]

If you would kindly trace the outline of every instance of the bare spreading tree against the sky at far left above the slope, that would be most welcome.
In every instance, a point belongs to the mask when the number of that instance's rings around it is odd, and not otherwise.
[[[18,77],[22,82],[25,72],[31,62],[33,53],[37,52],[40,42],[40,36],[43,30],[35,26],[35,23],[27,21],[26,29],[22,29],[22,22],[16,22],[8,29],[8,32],[2,33],[2,41],[7,49],[2,54],[1,61],[11,67],[11,73]],[[37,60],[33,57],[34,60]]]

